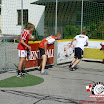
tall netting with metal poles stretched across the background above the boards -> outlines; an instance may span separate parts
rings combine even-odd
[[[104,37],[104,4],[99,0],[2,0],[0,7],[3,35],[20,35],[23,25],[31,22],[36,40],[56,32],[73,38],[82,28],[91,39]]]

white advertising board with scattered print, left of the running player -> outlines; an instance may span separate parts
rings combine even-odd
[[[74,57],[74,45],[69,48],[71,40],[58,41],[57,44],[57,64],[70,62]],[[75,43],[74,43],[75,44]]]

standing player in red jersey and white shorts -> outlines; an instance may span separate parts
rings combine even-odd
[[[31,51],[31,47],[28,45],[28,41],[32,39],[32,32],[34,30],[35,26],[31,23],[28,23],[26,28],[23,30],[23,33],[20,38],[20,42],[18,44],[18,56],[20,58],[19,64],[18,64],[18,75],[17,77],[23,77],[23,74],[25,74],[25,61],[27,57],[27,50]]]

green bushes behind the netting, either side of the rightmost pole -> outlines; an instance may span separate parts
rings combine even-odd
[[[91,22],[90,25],[86,25],[85,29],[87,31],[87,36],[89,39],[104,39],[104,22]],[[76,35],[81,33],[81,28],[77,28],[73,25],[67,25],[64,28],[64,39],[72,39]]]

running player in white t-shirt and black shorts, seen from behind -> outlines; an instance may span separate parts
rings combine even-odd
[[[71,71],[75,70],[75,66],[81,61],[81,58],[83,58],[84,46],[88,46],[88,37],[86,36],[86,34],[87,34],[86,30],[83,29],[82,34],[75,36],[69,46],[71,47],[74,40],[76,40],[75,55],[74,55],[75,57],[72,60],[71,64],[69,65]]]

